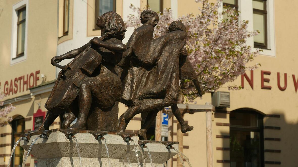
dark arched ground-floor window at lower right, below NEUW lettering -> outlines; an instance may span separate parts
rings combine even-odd
[[[231,166],[264,166],[263,115],[238,109],[230,114]]]

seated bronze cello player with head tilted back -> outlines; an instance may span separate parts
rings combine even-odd
[[[120,15],[110,11],[98,17],[97,26],[101,30],[100,38],[94,38],[78,49],[52,58],[51,63],[62,70],[45,104],[49,114],[44,121],[44,126],[39,130],[48,130],[58,115],[63,112],[72,112],[78,118],[77,122],[69,127],[70,129],[86,129],[86,120],[89,116],[91,121],[87,129],[116,130],[121,80],[114,66],[121,61],[122,52],[126,49],[125,44],[122,43],[126,25]],[[69,58],[74,59],[68,65],[58,64]],[[92,119],[96,118],[90,110],[91,104],[97,116],[100,115],[98,112],[106,114],[105,112],[112,111],[111,117],[105,117],[105,121],[109,123],[109,125],[103,125],[105,128],[94,128],[98,125],[92,123]]]

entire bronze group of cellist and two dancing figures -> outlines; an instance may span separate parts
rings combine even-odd
[[[158,21],[156,12],[144,10],[143,25],[134,31],[126,47],[122,43],[125,23],[116,12],[106,12],[97,20],[100,38],[52,58],[51,63],[61,71],[45,105],[49,114],[44,126],[36,131],[49,129],[59,114],[68,112],[63,128],[124,132],[132,117],[148,112],[138,131],[139,138],[146,139],[156,114],[167,106],[172,107],[181,131],[191,131],[193,126],[185,123],[176,104],[179,79],[191,79],[199,96],[204,91],[187,59],[186,28],[174,21],[169,33],[153,39]],[[66,66],[58,64],[68,58],[74,59]],[[129,108],[118,120],[119,101]],[[70,126],[75,118],[76,123]]]

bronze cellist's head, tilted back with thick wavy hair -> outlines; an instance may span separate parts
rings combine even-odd
[[[101,34],[109,38],[124,39],[126,25],[121,16],[114,11],[109,11],[97,18],[96,25],[100,28]]]

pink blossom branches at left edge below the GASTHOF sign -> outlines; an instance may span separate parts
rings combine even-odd
[[[5,97],[3,92],[0,92],[0,126],[5,125],[7,122],[12,121],[11,117],[8,117],[7,114],[12,112],[15,107],[12,104],[8,104],[7,106],[3,107],[4,102],[1,101]]]

